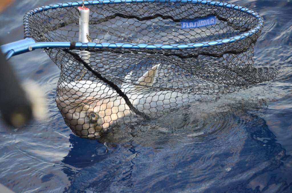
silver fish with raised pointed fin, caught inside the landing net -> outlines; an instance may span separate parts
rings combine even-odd
[[[152,86],[160,64],[143,74],[136,84],[121,85],[130,102],[145,113],[156,113],[159,108],[167,108],[182,94],[169,91],[145,92],[145,86]],[[129,80],[131,74],[125,77]],[[58,108],[66,124],[78,136],[99,138],[109,127],[134,114],[124,98],[102,82],[81,80],[58,86],[56,98]]]

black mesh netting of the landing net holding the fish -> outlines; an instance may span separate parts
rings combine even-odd
[[[255,28],[261,18],[200,3],[86,7],[90,9],[88,40],[96,44],[208,44],[244,34]],[[210,15],[216,17],[216,25],[182,29],[182,20]],[[36,42],[78,41],[77,7],[39,8],[29,12],[24,20],[25,35]],[[70,48],[48,48],[46,52],[61,70],[58,108],[75,134],[98,138],[119,121],[156,117],[190,102],[194,96],[230,93],[271,80],[276,76],[275,69],[254,67],[253,47],[260,31],[261,28],[233,43],[192,49],[130,46],[80,50],[74,43]]]

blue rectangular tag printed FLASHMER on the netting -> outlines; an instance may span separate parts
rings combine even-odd
[[[182,29],[205,27],[216,24],[215,16],[201,17],[194,20],[181,20]]]

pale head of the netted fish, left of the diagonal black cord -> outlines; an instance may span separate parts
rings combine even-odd
[[[102,84],[91,81],[62,83],[58,86],[57,106],[74,134],[99,138],[130,110],[124,100]],[[105,95],[106,93],[106,95]]]

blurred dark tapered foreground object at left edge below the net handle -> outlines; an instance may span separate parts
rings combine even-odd
[[[32,105],[2,52],[0,52],[0,62],[2,119],[13,127],[22,127],[32,119]]]

